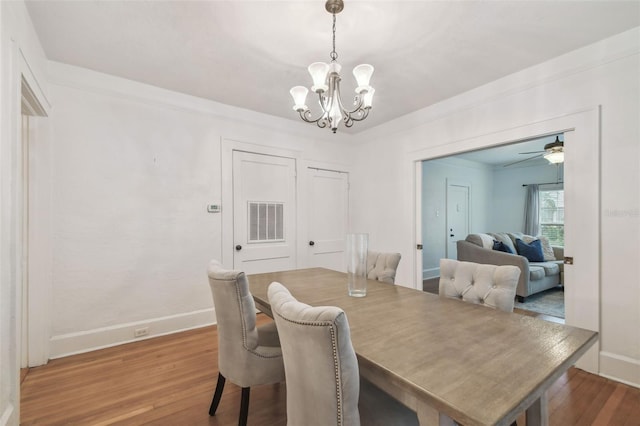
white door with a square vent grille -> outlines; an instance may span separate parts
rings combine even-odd
[[[247,274],[296,268],[296,162],[233,152],[233,267]]]

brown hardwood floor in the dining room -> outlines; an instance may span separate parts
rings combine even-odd
[[[23,370],[21,424],[235,425],[240,388],[232,383],[216,416],[208,414],[217,351],[216,328],[206,327]],[[550,389],[549,414],[557,426],[639,426],[640,389],[573,368]],[[249,424],[286,424],[284,384],[251,389]]]

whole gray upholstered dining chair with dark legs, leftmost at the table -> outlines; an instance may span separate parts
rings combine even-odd
[[[212,260],[209,286],[218,320],[218,383],[209,408],[214,416],[228,379],[242,388],[239,425],[247,424],[251,386],[284,381],[284,364],[275,322],[256,327],[256,307],[244,272]]]

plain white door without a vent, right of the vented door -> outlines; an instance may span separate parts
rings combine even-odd
[[[349,174],[307,169],[307,265],[344,271]]]

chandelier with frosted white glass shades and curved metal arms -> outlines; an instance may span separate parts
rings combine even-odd
[[[353,105],[350,106],[352,109],[349,110],[345,107],[340,95],[340,70],[342,67],[336,62],[338,58],[336,53],[336,14],[344,9],[344,3],[342,0],[327,0],[325,9],[333,15],[333,50],[329,55],[331,63],[314,62],[308,68],[313,79],[311,90],[318,95],[322,109],[318,118],[311,118],[311,111],[306,105],[307,93],[309,93],[306,87],[296,86],[289,93],[293,97],[293,110],[300,114],[301,119],[307,123],[316,123],[320,128],[328,125],[335,133],[340,121],[343,121],[346,127],[351,127],[354,122],[367,118],[371,110],[375,89],[369,86],[373,66],[369,64],[358,65],[353,69],[358,87]]]

